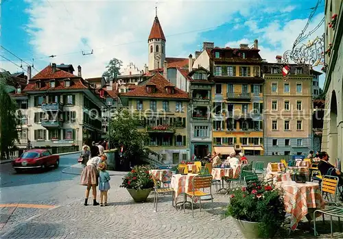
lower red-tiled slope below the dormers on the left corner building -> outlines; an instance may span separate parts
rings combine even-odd
[[[43,84],[43,82],[41,83]],[[82,83],[81,79],[73,79],[71,80],[71,86],[64,87],[65,81],[64,80],[56,80],[56,86],[54,88],[51,88],[49,85],[49,82],[45,82],[44,85],[41,85],[43,87],[36,88],[36,82],[29,82],[27,86],[24,88],[23,91],[36,91],[36,90],[64,90],[64,89],[70,89],[70,90],[80,90],[80,89],[88,89],[87,86],[85,86]]]

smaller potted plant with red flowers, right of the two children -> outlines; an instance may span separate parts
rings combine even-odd
[[[150,169],[150,166],[146,165],[134,166],[132,171],[123,177],[123,183],[120,187],[126,188],[137,203],[145,201],[154,187],[152,175],[149,173]]]

